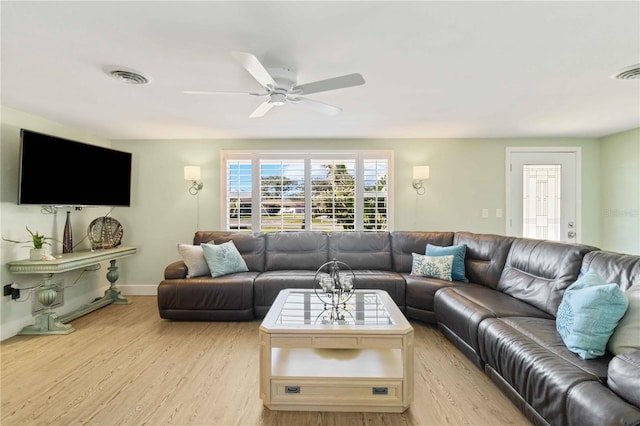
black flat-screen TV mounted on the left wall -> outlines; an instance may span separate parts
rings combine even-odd
[[[131,157],[21,129],[18,204],[130,206]]]

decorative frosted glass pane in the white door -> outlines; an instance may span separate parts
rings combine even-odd
[[[560,241],[561,171],[560,164],[523,167],[524,237]]]

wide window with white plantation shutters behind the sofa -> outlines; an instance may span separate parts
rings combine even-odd
[[[386,231],[391,151],[222,153],[230,231]]]

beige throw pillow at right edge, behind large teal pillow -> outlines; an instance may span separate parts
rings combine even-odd
[[[629,307],[607,343],[607,349],[614,355],[640,350],[640,285],[634,285],[624,294]]]

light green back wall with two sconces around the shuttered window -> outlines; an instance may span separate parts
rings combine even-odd
[[[221,229],[221,150],[392,149],[396,230],[466,230],[505,233],[505,151],[507,146],[580,146],[582,148],[582,241],[600,239],[600,142],[597,139],[389,139],[389,140],[139,140],[113,141],[133,153],[132,207],[114,211],[125,225],[125,243],[140,248],[133,268],[121,270],[127,284],[155,286],[163,266],[178,258],[178,242],[191,242],[197,229]],[[183,166],[202,167],[204,189],[189,195]],[[412,167],[429,165],[427,192],[411,187]],[[487,208],[490,217],[483,219]],[[144,291],[137,288],[137,292]]]

